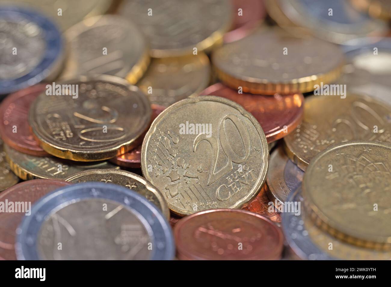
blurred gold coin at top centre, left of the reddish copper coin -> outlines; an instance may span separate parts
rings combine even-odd
[[[231,26],[227,0],[133,0],[118,9],[141,28],[151,44],[151,57],[178,57],[222,44]]]

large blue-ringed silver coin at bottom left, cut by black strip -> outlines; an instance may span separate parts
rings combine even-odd
[[[171,227],[155,205],[100,182],[47,194],[17,232],[18,260],[172,260],[175,253]]]

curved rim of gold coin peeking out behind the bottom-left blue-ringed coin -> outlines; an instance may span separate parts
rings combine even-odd
[[[149,181],[147,181],[145,178],[143,178],[140,175],[136,175],[135,173],[132,173],[130,171],[122,170],[122,169],[113,169],[113,168],[102,168],[102,169],[87,169],[85,171],[79,171],[77,173],[74,173],[64,179],[65,182],[71,182],[72,184],[75,184],[76,182],[72,182],[72,180],[75,180],[77,178],[81,178],[82,176],[90,175],[90,174],[100,174],[100,175],[106,175],[106,174],[117,174],[117,175],[123,175],[126,176],[127,178],[131,178],[136,180],[137,182],[141,183],[144,185],[148,191],[153,193],[156,198],[159,201],[160,209],[163,215],[166,217],[167,220],[170,219],[170,210],[167,207],[167,203],[163,197],[163,194],[159,189],[154,187]],[[88,181],[90,182],[90,181]],[[95,181],[92,181],[95,182]],[[113,182],[113,184],[115,184]],[[117,184],[120,185],[120,184]],[[137,193],[137,191],[135,191]]]

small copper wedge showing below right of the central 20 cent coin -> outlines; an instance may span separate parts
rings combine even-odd
[[[267,197],[267,185],[265,184],[256,198],[243,209],[267,217],[273,222],[281,223],[280,214],[274,211],[274,205],[272,203],[269,204],[269,202],[271,200]]]

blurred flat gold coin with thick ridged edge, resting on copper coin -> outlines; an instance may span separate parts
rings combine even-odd
[[[217,76],[233,89],[254,94],[314,90],[341,74],[343,50],[312,37],[295,38],[279,29],[261,29],[212,54]]]

